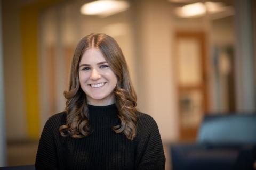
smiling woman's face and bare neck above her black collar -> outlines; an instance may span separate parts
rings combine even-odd
[[[79,83],[88,104],[106,106],[115,103],[117,78],[100,50],[91,48],[84,52],[79,63]]]

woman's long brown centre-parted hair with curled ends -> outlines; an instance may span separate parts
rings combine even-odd
[[[117,77],[114,94],[120,124],[113,126],[112,129],[116,133],[124,133],[128,139],[132,140],[136,134],[137,96],[121,48],[112,37],[102,33],[87,35],[79,41],[76,47],[71,64],[69,89],[64,91],[64,96],[67,99],[66,124],[60,126],[60,134],[82,138],[91,133],[86,94],[80,87],[78,77],[79,63],[83,53],[90,48],[101,51]]]

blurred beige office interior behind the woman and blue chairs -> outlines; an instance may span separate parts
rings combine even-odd
[[[205,114],[255,111],[254,0],[2,0],[0,11],[0,166],[34,164],[89,33],[121,46],[138,109],[159,126],[166,169],[166,146],[195,141]]]

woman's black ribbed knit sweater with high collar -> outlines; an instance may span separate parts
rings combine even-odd
[[[89,105],[93,132],[83,138],[62,137],[59,127],[66,113],[47,120],[37,150],[36,169],[164,169],[165,156],[156,122],[147,114],[137,114],[137,134],[131,141],[115,133],[119,124],[116,105]]]

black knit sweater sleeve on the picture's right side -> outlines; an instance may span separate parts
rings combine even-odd
[[[162,170],[165,169],[163,143],[155,120],[148,117],[147,123],[143,125],[146,129],[144,131],[146,137],[139,144],[142,150],[137,169]]]

